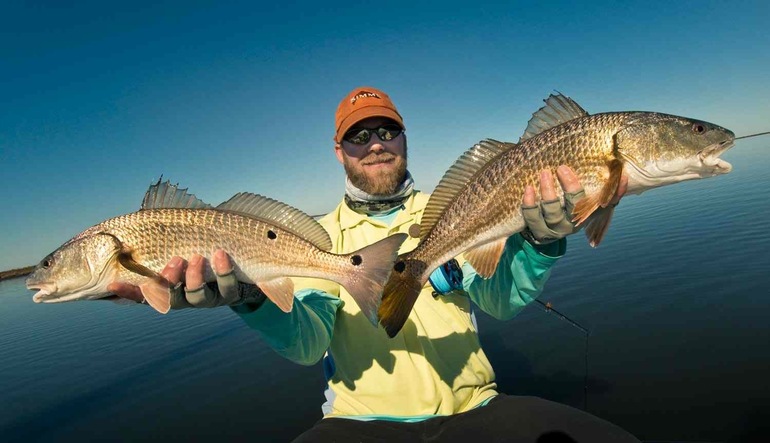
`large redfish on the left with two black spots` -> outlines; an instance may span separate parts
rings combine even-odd
[[[92,226],[45,257],[27,279],[38,303],[104,298],[107,285],[139,286],[161,313],[170,309],[168,291],[150,280],[175,255],[227,251],[239,281],[257,284],[284,312],[294,300],[289,277],[339,283],[377,325],[385,281],[406,234],[396,234],[350,254],[333,254],[329,234],[309,215],[276,200],[240,193],[216,208],[186,189],[156,183],[142,209]],[[206,269],[205,280],[216,281]]]

